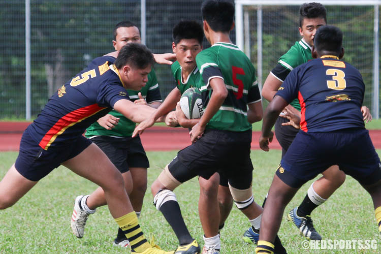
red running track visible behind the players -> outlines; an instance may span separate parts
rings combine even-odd
[[[18,151],[22,132],[30,122],[0,122],[0,151]],[[141,136],[144,148],[147,151],[180,150],[190,145],[189,131],[183,128],[169,128],[153,126]],[[381,149],[381,130],[370,130],[373,145]],[[251,149],[260,149],[258,145],[260,132],[252,133]],[[270,149],[281,149],[275,139],[270,143]]]

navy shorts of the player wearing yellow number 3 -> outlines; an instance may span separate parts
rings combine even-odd
[[[289,186],[298,188],[332,165],[338,165],[363,185],[381,179],[381,163],[365,129],[328,133],[299,131],[276,175]]]

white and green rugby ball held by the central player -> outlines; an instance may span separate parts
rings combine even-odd
[[[180,108],[188,119],[196,119],[202,116],[204,106],[199,88],[190,87],[184,91],[180,99]]]

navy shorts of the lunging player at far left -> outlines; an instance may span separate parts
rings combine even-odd
[[[23,133],[20,142],[20,152],[15,168],[25,178],[38,181],[48,175],[61,163],[80,154],[91,144],[91,141],[79,136],[74,142],[59,147],[41,148],[27,133]]]

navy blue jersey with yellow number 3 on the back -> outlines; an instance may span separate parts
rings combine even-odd
[[[365,85],[360,72],[336,56],[323,56],[295,68],[275,94],[298,98],[301,130],[331,132],[365,128],[361,106]]]

